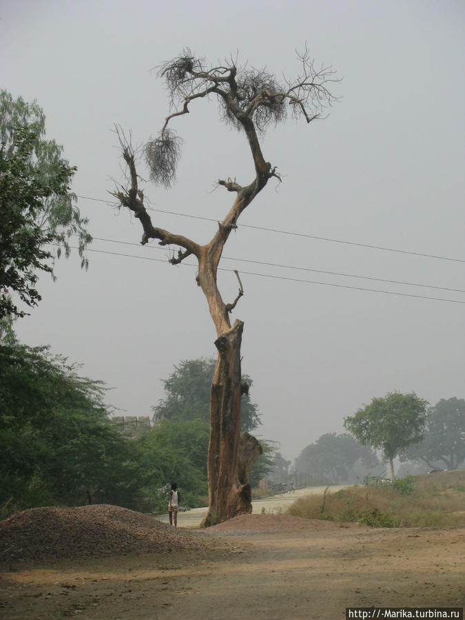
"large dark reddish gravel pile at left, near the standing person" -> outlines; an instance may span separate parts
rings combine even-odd
[[[74,558],[205,548],[206,541],[134,510],[31,508],[0,521],[2,559]]]

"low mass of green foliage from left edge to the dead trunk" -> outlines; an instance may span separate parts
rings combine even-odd
[[[209,423],[162,420],[136,439],[112,424],[101,382],[47,347],[17,342],[12,320],[0,320],[0,506],[110,503],[165,511],[164,487],[176,481],[182,505],[207,494]],[[188,400],[188,399],[187,399]],[[268,471],[274,448],[264,444],[252,483]]]

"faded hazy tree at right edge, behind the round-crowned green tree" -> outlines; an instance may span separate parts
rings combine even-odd
[[[422,459],[430,468],[442,462],[447,469],[457,469],[465,461],[465,400],[442,398],[430,407],[423,441],[407,448],[402,456]]]

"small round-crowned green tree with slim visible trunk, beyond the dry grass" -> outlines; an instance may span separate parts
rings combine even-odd
[[[415,393],[389,393],[346,417],[344,426],[362,444],[382,450],[394,479],[394,458],[423,439],[426,405]]]

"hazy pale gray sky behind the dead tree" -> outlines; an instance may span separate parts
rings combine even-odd
[[[111,179],[121,180],[114,123],[141,144],[167,115],[167,93],[152,68],[189,47],[207,61],[238,53],[239,62],[292,77],[300,69],[295,50],[307,41],[316,63],[343,78],[335,86],[342,100],[324,121],[269,130],[265,159],[283,183],[269,183],[251,203],[240,220],[249,227],[231,237],[220,264],[227,301],[237,292],[233,269],[245,288],[233,318],[245,321],[242,369],[254,380],[259,434],[291,459],[323,433],[342,431],[344,417],[372,397],[396,390],[431,404],[465,397],[463,292],[304,270],[464,291],[462,1],[273,8],[262,1],[3,0],[0,17],[1,87],[37,99],[48,136],[79,169],[72,189],[101,200]],[[245,136],[221,125],[214,101],[194,102],[173,127],[184,139],[177,182],[169,192],[145,183],[150,206],[222,219],[231,194],[213,192],[214,182],[253,178]],[[109,402],[127,415],[149,415],[174,364],[215,355],[196,270],[157,262],[167,249],[156,244],[99,240],[138,244],[141,229],[105,202],[80,198],[79,208],[90,218],[92,249],[143,259],[90,251],[87,273],[75,256],[60,260],[58,281],[41,278],[43,301],[17,331],[23,342],[50,343],[82,363],[83,373],[113,388]],[[216,229],[214,221],[152,216],[154,225],[199,242]]]

